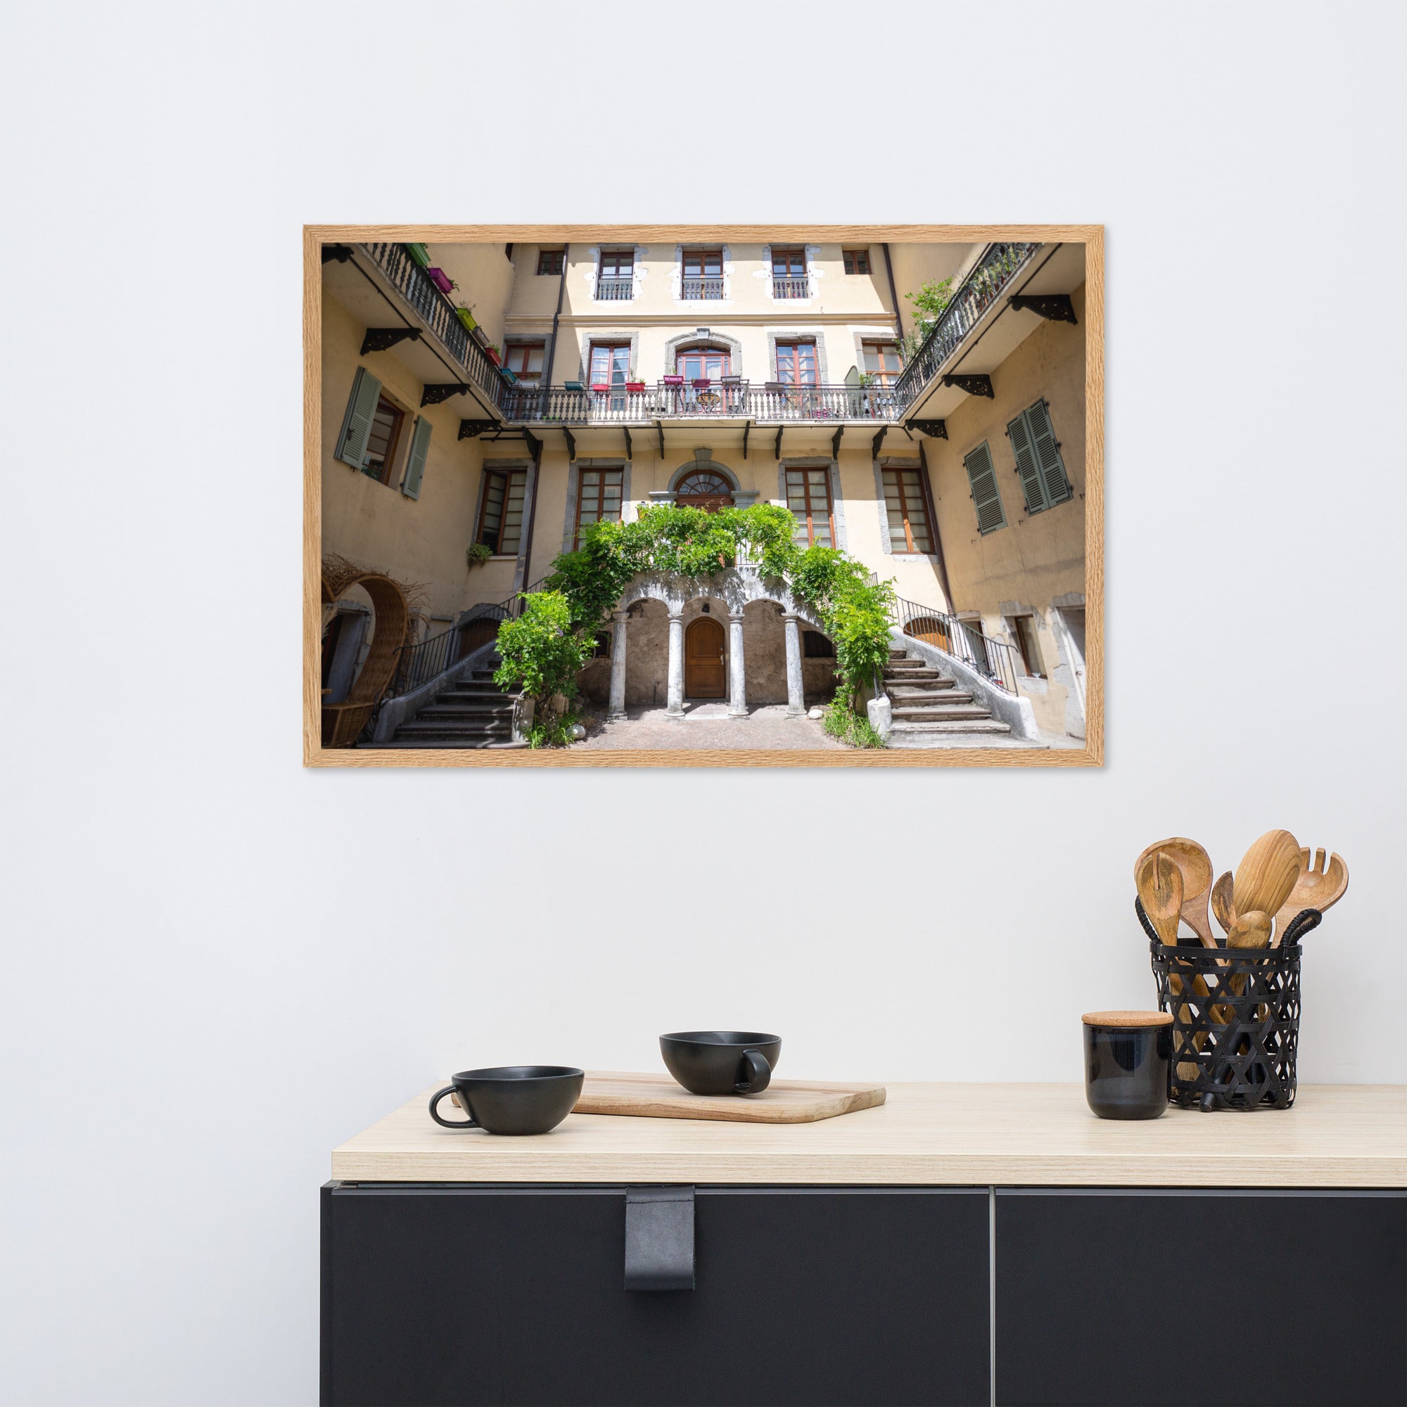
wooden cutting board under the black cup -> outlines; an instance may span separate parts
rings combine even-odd
[[[809,1124],[885,1099],[884,1085],[774,1079],[760,1095],[691,1095],[668,1075],[598,1071],[587,1075],[574,1114],[633,1114],[643,1119],[726,1119],[744,1124]]]

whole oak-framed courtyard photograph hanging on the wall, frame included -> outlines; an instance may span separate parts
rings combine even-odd
[[[304,231],[304,761],[1103,761],[1103,228]]]

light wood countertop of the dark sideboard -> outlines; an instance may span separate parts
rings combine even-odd
[[[1301,1085],[1294,1107],[1096,1119],[1081,1085],[889,1085],[808,1124],[568,1114],[497,1138],[431,1121],[432,1089],[332,1154],[343,1182],[1407,1186],[1407,1086]]]

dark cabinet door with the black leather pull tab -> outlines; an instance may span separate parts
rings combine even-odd
[[[985,1188],[699,1188],[673,1293],[623,1289],[620,1186],[322,1196],[331,1407],[991,1400]]]

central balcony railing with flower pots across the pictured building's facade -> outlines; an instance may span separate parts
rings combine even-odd
[[[512,424],[649,425],[654,421],[751,421],[754,425],[893,422],[908,402],[893,387],[787,386],[768,381],[658,383],[643,391],[514,387],[499,408]]]

